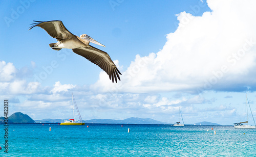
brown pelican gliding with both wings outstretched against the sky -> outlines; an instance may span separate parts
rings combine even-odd
[[[92,63],[98,65],[102,70],[104,70],[110,77],[110,80],[117,83],[117,77],[120,81],[119,74],[121,72],[117,69],[114,62],[111,60],[108,53],[89,45],[90,42],[95,43],[100,46],[104,46],[97,42],[90,36],[86,34],[80,35],[80,37],[70,33],[62,23],[62,21],[34,21],[29,30],[38,26],[44,29],[50,36],[57,39],[57,43],[49,44],[54,50],[60,50],[61,48],[70,48],[74,53],[88,59]],[[105,47],[105,46],[104,46]],[[118,74],[119,73],[119,74]]]

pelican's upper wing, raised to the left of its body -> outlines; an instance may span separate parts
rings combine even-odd
[[[32,25],[29,30],[31,30],[32,28],[38,26],[44,30],[46,30],[46,32],[52,36],[53,38],[56,38],[58,41],[62,40],[62,39],[70,39],[72,38],[74,35],[72,33],[70,33],[66,27],[64,26],[64,24],[62,23],[62,21],[34,21],[36,23],[32,23],[34,25]]]

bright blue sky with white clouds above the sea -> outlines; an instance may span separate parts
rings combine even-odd
[[[174,123],[180,108],[185,124],[246,121],[246,94],[256,116],[255,7],[253,0],[1,1],[0,100],[8,99],[9,116],[34,120],[72,118],[73,93],[83,120]],[[110,55],[121,81],[71,49],[51,49],[56,39],[45,30],[28,31],[33,20],[61,20],[105,45],[91,43]]]

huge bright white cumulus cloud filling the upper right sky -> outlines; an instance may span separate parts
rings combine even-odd
[[[146,93],[255,86],[251,78],[256,68],[256,1],[207,3],[212,11],[202,16],[177,14],[178,28],[167,34],[163,48],[145,57],[137,55],[121,82],[99,79],[94,89]]]

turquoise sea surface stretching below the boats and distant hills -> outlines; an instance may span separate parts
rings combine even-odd
[[[4,128],[0,156],[256,156],[256,129],[233,126],[9,124],[8,153]]]

